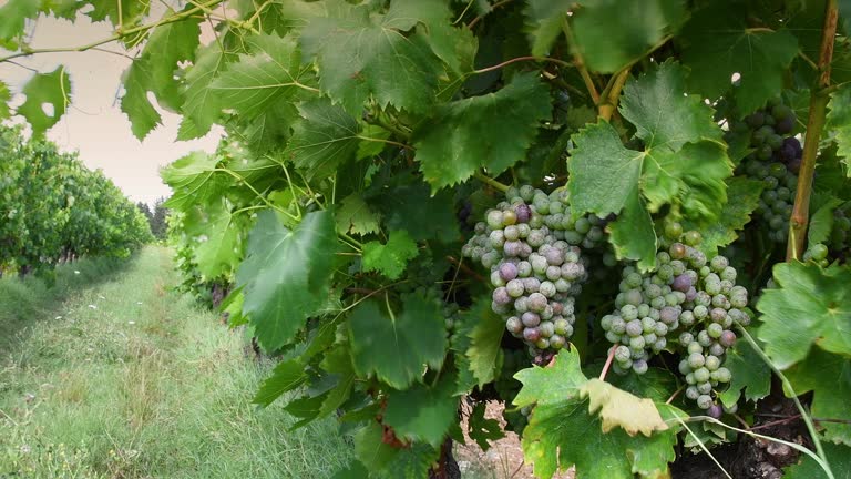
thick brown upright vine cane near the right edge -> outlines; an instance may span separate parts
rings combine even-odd
[[[816,173],[816,157],[819,153],[819,140],[824,128],[824,115],[830,96],[822,90],[830,86],[830,62],[833,58],[833,42],[837,35],[839,9],[837,0],[828,0],[824,10],[824,28],[821,32],[821,49],[819,53],[818,89],[810,95],[810,114],[807,119],[807,135],[803,140],[801,170],[798,174],[798,190],[794,195],[792,217],[789,221],[789,246],[786,259],[800,259],[807,234],[807,222],[810,214],[810,194],[812,193],[812,176]]]

